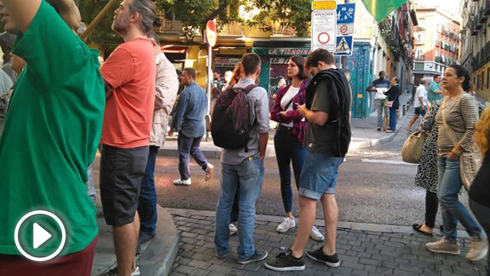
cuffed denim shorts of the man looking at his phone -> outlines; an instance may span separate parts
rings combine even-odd
[[[324,193],[335,194],[338,167],[343,157],[309,151],[299,177],[299,195],[319,200]]]

